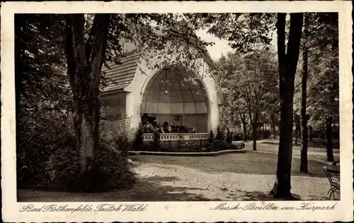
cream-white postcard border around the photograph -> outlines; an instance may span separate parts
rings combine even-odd
[[[1,4],[1,188],[2,214],[6,222],[268,222],[268,221],[350,221],[353,219],[353,140],[352,140],[352,6],[350,1],[209,1],[209,2],[6,2]],[[14,13],[164,13],[164,12],[335,12],[339,13],[339,85],[341,200],[314,201],[315,205],[336,205],[334,210],[210,210],[222,202],[146,202],[142,212],[20,212],[26,204],[58,204],[78,207],[102,203],[17,203],[16,126],[14,89]],[[274,176],[275,178],[275,176]],[[305,201],[256,201],[299,207]],[[119,206],[127,202],[106,202]],[[251,202],[230,201],[228,205]]]

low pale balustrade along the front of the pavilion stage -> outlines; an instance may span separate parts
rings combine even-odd
[[[207,140],[210,133],[160,133],[161,141]],[[153,141],[154,133],[144,133],[144,141]]]

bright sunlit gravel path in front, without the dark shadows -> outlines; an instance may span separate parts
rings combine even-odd
[[[143,179],[159,176],[161,186],[170,186],[171,189],[185,188],[185,193],[195,194],[207,200],[273,199],[268,192],[273,187],[274,175],[206,173],[198,169],[166,164],[141,164],[136,171]],[[301,200],[326,200],[328,188],[326,178],[292,176],[292,193]],[[182,192],[171,190],[169,193]]]

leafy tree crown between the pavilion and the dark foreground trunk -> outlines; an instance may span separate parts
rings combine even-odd
[[[221,72],[222,92],[235,119],[239,119],[241,113],[247,114],[253,122],[253,114],[270,116],[278,107],[275,52],[259,50],[228,54],[222,56],[217,65]]]

